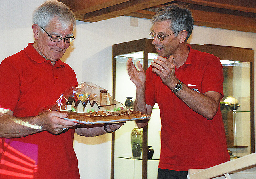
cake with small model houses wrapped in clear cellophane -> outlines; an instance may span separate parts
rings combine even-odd
[[[129,120],[149,119],[150,115],[132,111],[116,101],[107,90],[89,82],[68,88],[58,101],[44,111],[68,113],[66,120],[81,124],[112,123]]]

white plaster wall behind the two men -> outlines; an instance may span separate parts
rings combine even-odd
[[[34,42],[32,12],[43,0],[1,0],[0,62]],[[130,17],[87,23],[77,21],[76,39],[63,61],[76,72],[78,82],[92,82],[112,94],[112,45],[149,38],[151,23],[138,18],[138,27],[130,26]],[[195,26],[189,43],[237,46],[256,50],[256,33]],[[75,136],[82,179],[110,179],[111,135]]]

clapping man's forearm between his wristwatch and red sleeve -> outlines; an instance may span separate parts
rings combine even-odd
[[[220,102],[220,93],[218,92],[211,91],[202,94],[183,84],[182,90],[175,94],[193,111],[196,111],[208,120],[212,119],[218,110]]]

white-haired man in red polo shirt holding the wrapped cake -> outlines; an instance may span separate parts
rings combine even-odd
[[[63,91],[77,85],[75,72],[60,60],[74,40],[75,22],[66,5],[45,2],[34,12],[34,44],[0,65],[1,179],[79,179],[74,133],[96,136],[122,125],[80,128],[62,119],[64,113],[38,116],[41,107],[54,104]]]

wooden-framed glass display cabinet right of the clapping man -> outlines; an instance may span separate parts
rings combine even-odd
[[[191,46],[214,54],[222,63],[224,97],[220,107],[231,159],[254,153],[254,50],[210,44]]]

